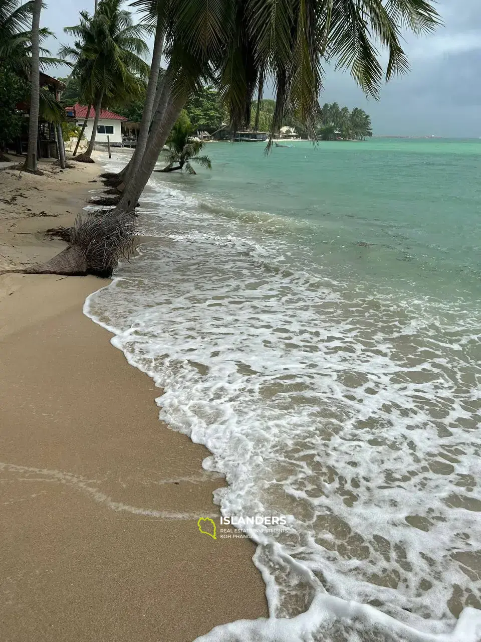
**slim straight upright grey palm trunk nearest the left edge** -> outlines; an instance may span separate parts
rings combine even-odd
[[[38,144],[38,112],[40,111],[40,12],[42,0],[34,0],[31,25],[31,90],[30,90],[30,122],[28,125],[28,150],[25,159],[25,171],[36,172]]]

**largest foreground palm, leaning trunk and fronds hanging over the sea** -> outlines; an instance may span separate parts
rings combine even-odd
[[[148,146],[118,212],[135,207],[185,101],[212,65],[234,128],[249,122],[253,96],[270,80],[276,99],[272,131],[290,110],[315,138],[324,60],[349,69],[364,92],[377,98],[383,70],[376,41],[389,51],[389,80],[408,69],[401,29],[425,33],[440,22],[426,0],[195,0],[194,6],[178,0],[174,9],[167,16],[167,52],[174,61],[167,72],[168,108],[164,114],[156,110]]]

